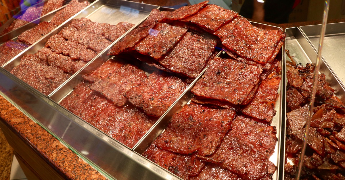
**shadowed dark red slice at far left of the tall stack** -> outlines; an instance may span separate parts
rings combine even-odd
[[[108,52],[109,55],[117,55],[121,52],[134,47],[142,38],[145,38],[154,27],[154,24],[151,24],[147,27],[136,28],[130,31],[124,38],[117,42]]]

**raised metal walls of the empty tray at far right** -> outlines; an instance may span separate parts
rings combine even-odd
[[[341,26],[340,28],[338,27],[339,25]],[[321,24],[298,27],[298,29],[302,32],[303,36],[308,40],[308,42],[311,44],[311,46],[314,48],[314,50],[316,52],[318,52],[318,49],[317,49],[318,47],[315,47],[314,44],[312,43],[311,39],[308,37],[308,34],[306,32],[307,30],[303,30],[303,29],[309,28],[309,27],[311,27],[313,29],[313,32],[308,32],[308,33],[311,33],[310,37],[319,37],[319,32],[321,31]],[[345,31],[343,30],[344,28],[345,28],[344,22],[327,24],[325,37],[334,36],[334,35],[339,34],[339,33],[345,34]],[[332,31],[335,31],[335,32],[332,32]],[[323,59],[324,63],[327,65],[329,70],[332,71],[332,73],[334,74],[335,78],[337,78],[337,80],[339,81],[341,86],[343,88],[345,88],[344,82],[342,82],[342,80],[337,76],[337,74],[333,70],[332,66],[327,62],[326,58],[324,58],[323,55],[321,55],[321,58]],[[345,102],[344,100],[345,99],[342,99],[343,102]]]

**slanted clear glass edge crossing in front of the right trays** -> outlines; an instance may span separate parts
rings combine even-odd
[[[310,122],[311,122],[311,119],[313,116],[315,94],[316,94],[317,82],[318,82],[318,78],[319,78],[319,69],[320,69],[319,65],[320,65],[320,59],[321,59],[321,51],[322,51],[323,40],[325,37],[326,23],[327,23],[328,10],[329,10],[329,1],[330,0],[325,0],[321,34],[320,34],[320,41],[319,41],[319,47],[318,47],[317,58],[316,58],[316,63],[315,63],[316,67],[315,67],[315,71],[314,71],[314,83],[313,83],[313,89],[312,89],[312,96],[311,96],[310,104],[309,104],[310,105],[309,106],[309,114],[308,114],[308,119],[306,122],[306,129],[305,129],[304,139],[303,139],[303,148],[302,148],[299,163],[298,163],[298,172],[297,172],[296,180],[300,180],[302,168],[304,166],[304,160],[303,159],[304,159],[305,150],[307,147],[307,140],[309,138]]]

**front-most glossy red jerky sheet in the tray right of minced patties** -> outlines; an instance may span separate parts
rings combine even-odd
[[[155,123],[137,108],[117,107],[100,93],[79,83],[60,104],[83,120],[132,148]]]

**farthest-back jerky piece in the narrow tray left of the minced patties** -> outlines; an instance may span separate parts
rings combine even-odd
[[[78,2],[77,0],[71,0],[71,2],[69,2],[65,8],[63,8],[55,14],[55,16],[51,19],[50,22],[55,24],[56,26],[59,26],[60,24],[65,22],[67,19],[69,19],[74,14],[78,13],[88,5],[89,2],[87,1]]]

